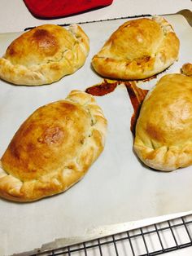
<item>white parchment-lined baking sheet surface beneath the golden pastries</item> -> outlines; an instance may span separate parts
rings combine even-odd
[[[165,17],[181,41],[179,60],[165,73],[179,73],[182,64],[191,62],[192,28],[182,15]],[[90,60],[124,21],[82,24],[90,38],[89,57],[81,69],[59,82],[28,87],[0,81],[0,156],[20,124],[35,109],[64,99],[73,89],[85,90],[102,82],[92,70]],[[19,34],[0,34],[0,55]],[[165,73],[139,86],[149,89]],[[191,166],[163,173],[143,166],[134,155],[130,131],[133,107],[126,88],[118,86],[111,94],[96,99],[108,120],[103,154],[85,178],[67,192],[33,203],[0,199],[0,255],[40,248],[55,239],[48,247],[76,241],[76,238],[81,241],[85,237],[103,236],[116,224],[120,232],[133,221],[192,210]]]

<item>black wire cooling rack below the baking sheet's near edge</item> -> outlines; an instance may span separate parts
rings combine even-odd
[[[155,256],[192,245],[192,215],[33,256]]]

